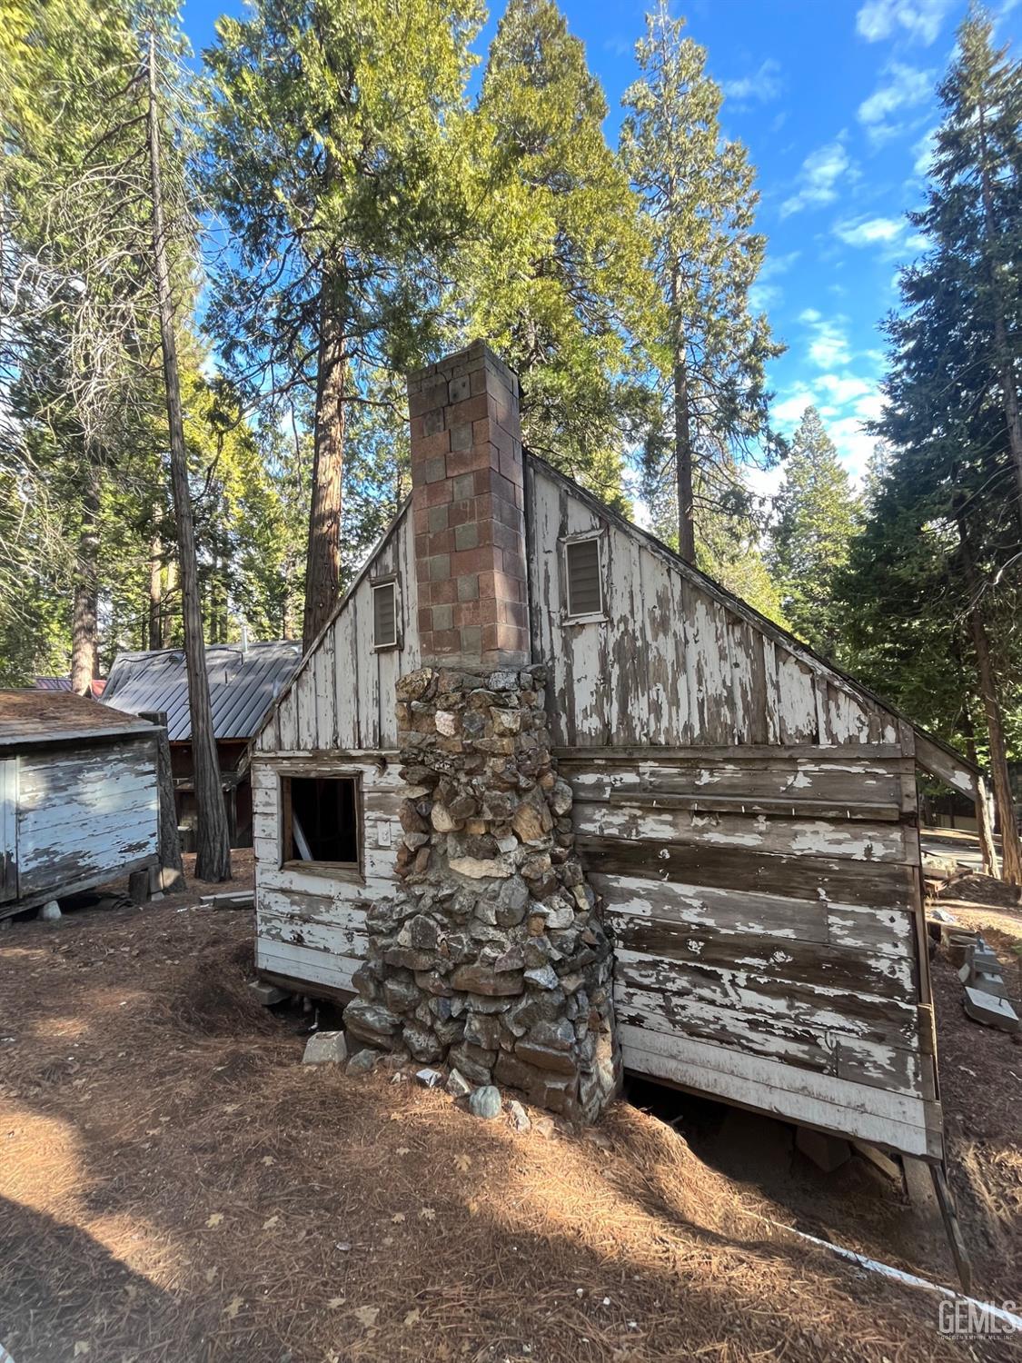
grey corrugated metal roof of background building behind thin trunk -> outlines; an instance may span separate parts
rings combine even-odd
[[[206,649],[213,732],[218,739],[251,739],[263,716],[301,661],[301,646],[289,639],[273,643],[214,643]],[[166,710],[172,743],[192,736],[188,714],[188,677],[184,649],[119,653],[106,679],[104,705],[138,714]]]

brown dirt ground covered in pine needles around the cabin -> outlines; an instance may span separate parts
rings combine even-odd
[[[929,1293],[762,1220],[890,1262],[893,1184],[814,1220],[627,1103],[544,1137],[388,1073],[303,1067],[301,1014],[245,988],[251,913],[196,893],[0,934],[0,1344],[16,1363],[1010,1356],[940,1337]],[[1022,919],[977,912],[1006,953],[1022,938]],[[948,972],[936,962],[957,1191],[977,1292],[1002,1300],[1022,1295],[1022,1052],[963,1021]],[[856,1212],[871,1199],[872,1221]]]

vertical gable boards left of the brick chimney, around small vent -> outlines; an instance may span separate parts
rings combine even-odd
[[[320,641],[303,661],[256,752],[328,752],[397,744],[394,683],[418,667],[418,592],[410,511],[364,568]],[[372,583],[395,578],[398,647],[373,646]]]

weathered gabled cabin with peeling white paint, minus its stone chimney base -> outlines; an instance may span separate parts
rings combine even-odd
[[[399,677],[542,664],[625,1070],[939,1159],[916,769],[974,770],[523,451],[485,346],[409,393],[413,496],[253,744],[260,973],[360,983],[407,856]]]

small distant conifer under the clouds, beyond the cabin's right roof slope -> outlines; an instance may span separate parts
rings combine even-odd
[[[838,657],[842,616],[834,586],[861,506],[815,408],[805,409],[792,440],[775,510],[770,570],[784,612],[809,647]]]

